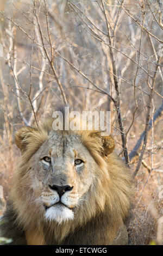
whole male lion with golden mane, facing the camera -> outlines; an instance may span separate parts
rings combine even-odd
[[[131,176],[112,136],[55,131],[52,120],[15,134],[20,162],[1,224],[11,245],[127,245]]]

